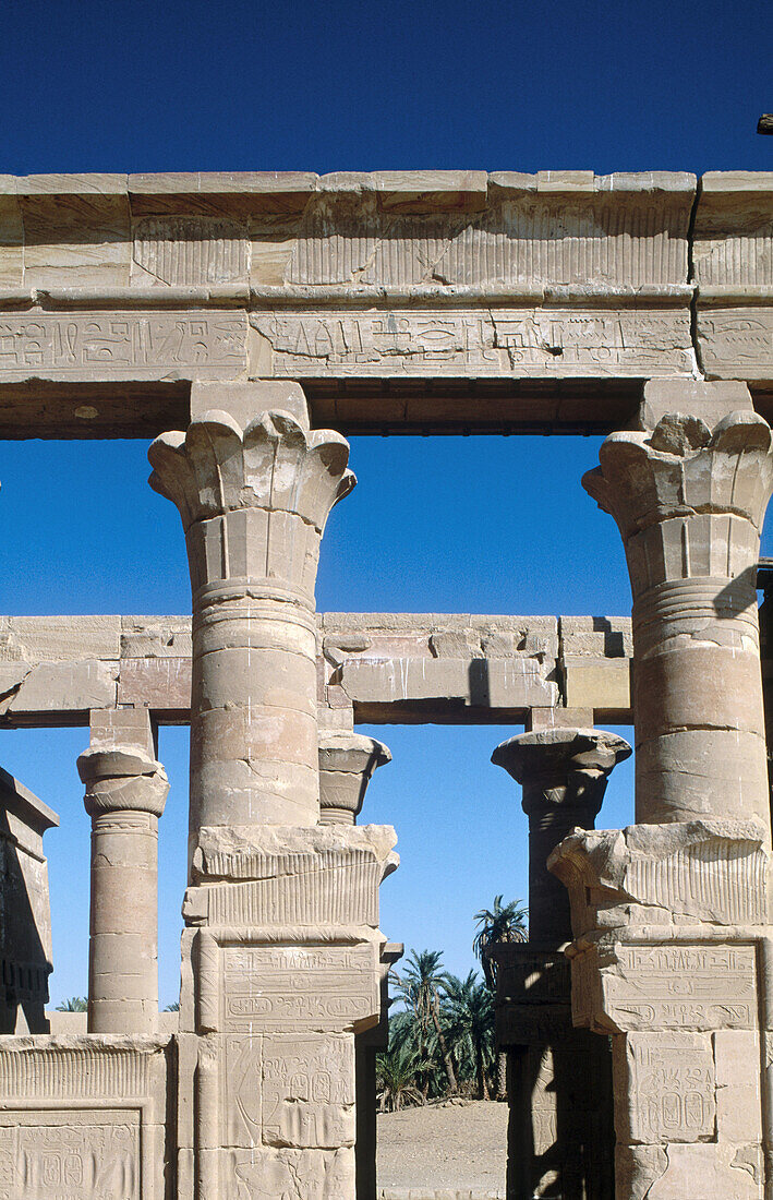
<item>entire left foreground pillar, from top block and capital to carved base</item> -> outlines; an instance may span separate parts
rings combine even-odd
[[[349,446],[292,383],[194,386],[192,418],[150,450],[193,592],[179,1200],[354,1200],[397,859],[388,827],[319,823],[314,583]]]

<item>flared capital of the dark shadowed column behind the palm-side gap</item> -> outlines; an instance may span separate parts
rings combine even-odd
[[[630,756],[616,733],[593,728],[552,728],[519,733],[502,742],[491,762],[524,786],[524,811],[581,806],[592,820],[602,806],[612,767]]]

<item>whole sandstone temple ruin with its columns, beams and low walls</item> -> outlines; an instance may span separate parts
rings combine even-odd
[[[0,719],[83,726],[92,828],[87,1032],[52,1033],[58,818],[0,774],[0,1200],[375,1200],[397,835],[356,726],[435,720],[526,730],[491,746],[531,848],[509,1200],[773,1200],[772,230],[744,172],[0,175],[0,436],[146,439],[192,587],[0,617]],[[530,432],[606,437],[630,617],[316,613],[348,434]]]

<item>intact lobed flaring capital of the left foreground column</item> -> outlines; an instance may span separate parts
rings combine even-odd
[[[147,456],[151,487],[180,510],[199,610],[288,593],[312,602],[325,523],[356,482],[345,438],[308,432],[285,412],[242,430],[211,410],[156,438]]]

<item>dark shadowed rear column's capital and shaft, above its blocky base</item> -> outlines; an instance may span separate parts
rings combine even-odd
[[[529,940],[557,948],[572,937],[569,895],[546,866],[576,826],[592,829],[615,763],[630,755],[623,738],[602,730],[554,728],[502,742],[491,762],[523,787],[529,817]]]

